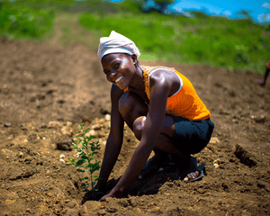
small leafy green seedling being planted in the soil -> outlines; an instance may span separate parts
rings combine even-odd
[[[98,171],[100,169],[101,166],[99,166],[100,161],[96,161],[94,159],[94,155],[96,155],[97,149],[99,148],[99,144],[98,142],[89,142],[91,139],[93,139],[93,136],[86,136],[86,133],[88,132],[88,130],[90,130],[89,128],[84,129],[85,125],[81,125],[79,124],[78,130],[76,131],[76,133],[79,133],[79,135],[76,135],[76,138],[81,139],[80,141],[73,142],[73,149],[77,150],[77,157],[75,158],[71,158],[71,165],[75,165],[76,167],[80,167],[80,169],[78,170],[78,172],[80,173],[85,173],[87,171],[90,172],[90,182],[91,182],[91,188],[92,188],[92,192],[94,195],[94,192],[96,191],[96,189],[94,189],[94,184],[95,182],[98,180],[98,176],[94,175],[94,171]],[[83,180],[88,180],[89,177],[85,176],[83,178]],[[86,185],[88,185],[87,182],[85,182],[84,184],[82,184],[82,187],[85,187]],[[85,190],[85,192],[87,192],[88,190]]]

